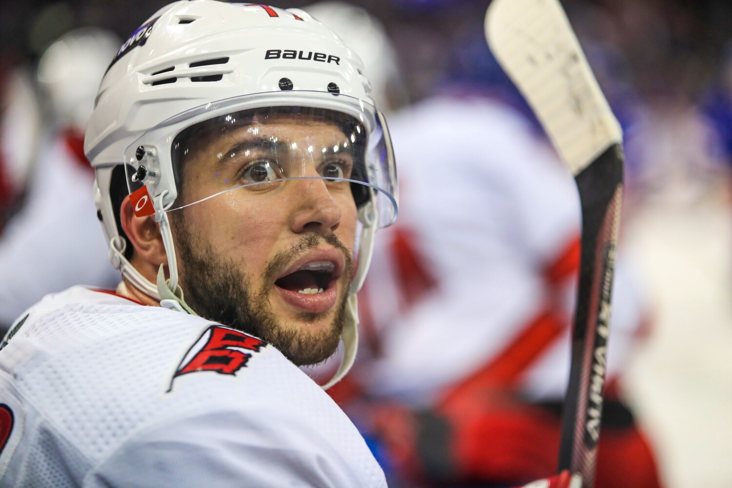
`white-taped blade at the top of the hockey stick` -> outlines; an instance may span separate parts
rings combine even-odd
[[[493,0],[485,37],[572,174],[622,141],[558,0]]]

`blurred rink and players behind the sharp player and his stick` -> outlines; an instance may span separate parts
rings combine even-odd
[[[83,127],[109,60],[166,3],[1,2],[0,326],[119,281]],[[507,486],[556,459],[577,196],[485,45],[489,3],[271,2],[359,53],[392,129],[400,221],[360,296],[359,364],[331,392],[392,486]],[[732,2],[562,3],[627,156],[599,486],[731,487]]]

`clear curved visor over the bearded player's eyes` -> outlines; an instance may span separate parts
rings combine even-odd
[[[277,96],[280,102],[288,98]],[[231,108],[245,107],[253,97],[239,97]],[[223,195],[258,200],[256,204],[310,195],[359,208],[371,203],[377,225],[391,224],[397,214],[397,176],[381,114],[345,95],[301,92],[291,100],[295,97],[301,102],[322,100],[317,108],[279,105],[231,112],[225,110],[229,105],[209,104],[192,114],[192,125],[181,129],[181,123],[172,121],[147,132],[125,152],[130,193],[145,184],[152,198],[160,195],[165,184],[157,173],[165,173],[160,168],[168,164],[164,153],[169,147],[176,198],[157,211]],[[207,114],[214,116],[205,119]],[[175,129],[176,135],[166,129]]]

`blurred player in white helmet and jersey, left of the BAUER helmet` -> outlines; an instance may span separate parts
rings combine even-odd
[[[0,236],[3,329],[46,293],[78,283],[114,287],[119,282],[99,234],[94,171],[83,154],[94,95],[118,49],[119,40],[107,31],[77,29],[40,59],[37,78],[50,101],[52,123],[44,143],[34,142],[42,149],[34,154],[23,207]]]

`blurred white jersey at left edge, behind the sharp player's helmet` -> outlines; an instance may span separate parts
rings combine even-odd
[[[47,293],[116,287],[93,186],[89,162],[69,140],[59,135],[42,151],[23,209],[0,236],[0,329]]]

